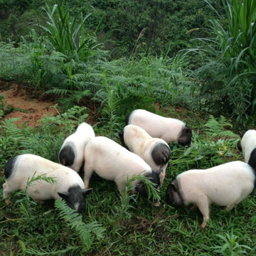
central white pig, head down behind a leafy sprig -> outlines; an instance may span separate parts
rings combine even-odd
[[[84,152],[84,184],[89,186],[89,179],[93,172],[100,177],[114,180],[122,197],[124,197],[127,179],[133,175],[143,175],[160,189],[160,178],[158,172],[153,172],[152,168],[138,155],[129,152],[126,148],[106,137],[95,137],[87,143]],[[148,199],[145,184],[140,180],[132,182],[132,191],[139,193]],[[153,203],[153,199],[149,199]],[[154,202],[155,203],[155,202]],[[159,202],[154,204],[159,205]]]

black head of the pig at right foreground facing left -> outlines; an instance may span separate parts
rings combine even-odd
[[[182,194],[180,193],[177,179],[173,179],[172,182],[168,185],[165,203],[171,204],[173,206],[183,206],[184,200]]]

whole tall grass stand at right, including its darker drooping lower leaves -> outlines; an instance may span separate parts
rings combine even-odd
[[[205,2],[218,17],[208,21],[213,37],[198,38],[199,47],[183,54],[192,57],[200,107],[242,124],[256,113],[256,1],[222,0],[222,15]]]

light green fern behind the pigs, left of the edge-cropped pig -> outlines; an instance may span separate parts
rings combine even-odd
[[[239,138],[239,135],[234,132],[227,130],[225,127],[229,127],[230,129],[233,127],[232,124],[227,121],[224,116],[220,116],[218,121],[214,118],[214,116],[210,115],[208,122],[204,125],[207,135],[212,137],[222,137],[222,138]]]

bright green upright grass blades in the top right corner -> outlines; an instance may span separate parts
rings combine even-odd
[[[207,2],[205,0],[205,2]],[[208,2],[207,2],[208,3]],[[231,82],[245,69],[256,72],[256,1],[222,0],[225,17],[210,19],[229,74],[236,74]],[[208,3],[209,4],[209,3]],[[209,4],[210,5],[210,4]]]

